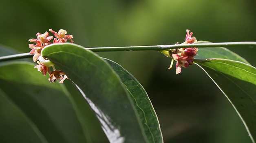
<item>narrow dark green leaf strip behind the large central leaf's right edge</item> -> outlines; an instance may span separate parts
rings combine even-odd
[[[126,90],[129,92],[150,143],[163,143],[159,121],[157,119],[157,115],[154,111],[152,103],[148,98],[147,92],[135,79],[135,77],[133,77],[127,70],[125,70],[116,62],[108,59],[105,60],[119,75],[122,83],[126,87]]]

